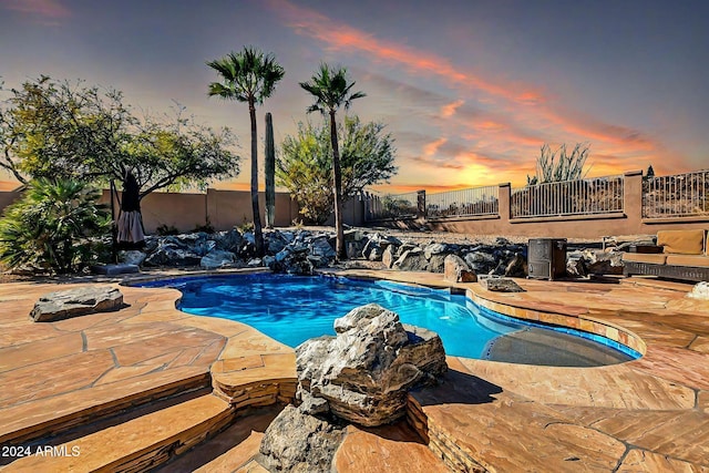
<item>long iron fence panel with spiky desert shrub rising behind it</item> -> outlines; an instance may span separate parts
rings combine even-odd
[[[512,218],[594,215],[623,212],[624,177],[544,183],[512,189]]]

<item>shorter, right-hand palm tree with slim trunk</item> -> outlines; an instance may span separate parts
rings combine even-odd
[[[320,112],[330,115],[330,143],[332,145],[332,181],[335,182],[335,228],[337,229],[336,253],[338,259],[346,259],[345,227],[342,226],[342,171],[340,168],[340,150],[337,142],[337,122],[335,114],[340,106],[350,107],[354,99],[366,96],[363,92],[350,93],[354,81],[348,83],[347,69],[330,68],[320,64],[309,82],[300,82],[300,86],[315,96],[316,102],[308,107],[308,113]]]

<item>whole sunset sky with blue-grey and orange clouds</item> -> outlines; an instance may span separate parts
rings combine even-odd
[[[395,138],[383,192],[521,185],[543,143],[590,143],[589,176],[675,174],[709,167],[707,20],[702,0],[0,0],[0,76],[83,79],[155,113],[178,101],[234,128],[244,187],[248,110],[207,97],[205,61],[247,44],[286,69],[259,140],[266,112],[277,142],[321,120],[298,82],[348,68],[368,94],[350,113]]]

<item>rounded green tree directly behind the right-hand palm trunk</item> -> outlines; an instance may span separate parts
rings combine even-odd
[[[338,125],[338,142],[342,143],[342,198],[387,182],[397,173],[393,138],[383,130],[382,123],[362,123],[358,116],[346,116],[345,124]],[[276,176],[278,185],[298,199],[300,213],[307,219],[325,223],[335,202],[329,126],[300,123],[296,135],[286,136]]]

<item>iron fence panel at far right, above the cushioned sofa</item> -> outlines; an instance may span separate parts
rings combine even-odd
[[[709,215],[709,169],[643,181],[643,218]]]

